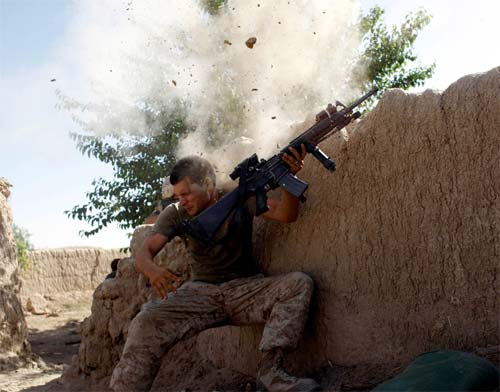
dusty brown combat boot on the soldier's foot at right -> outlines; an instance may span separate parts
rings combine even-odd
[[[283,368],[283,352],[266,351],[257,373],[257,390],[269,392],[312,392],[320,387],[312,378],[294,377]]]

